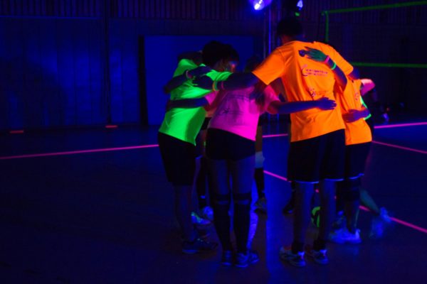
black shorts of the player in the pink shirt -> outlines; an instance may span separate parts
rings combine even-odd
[[[255,141],[221,129],[208,129],[206,156],[212,160],[241,160],[255,155]]]

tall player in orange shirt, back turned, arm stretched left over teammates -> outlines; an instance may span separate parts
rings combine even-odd
[[[259,67],[246,74],[233,74],[225,81],[214,82],[218,89],[238,89],[262,82],[270,84],[280,78],[288,102],[334,99],[336,85],[345,89],[344,73],[353,70],[334,48],[325,43],[307,42],[296,18],[278,23],[283,45],[268,55]],[[325,57],[325,54],[327,55]],[[209,78],[196,80],[209,88]],[[344,178],[344,121],[339,109],[309,109],[291,114],[291,141],[288,155],[288,179],[296,183],[296,202],[292,245],[280,248],[280,258],[294,266],[305,266],[305,233],[310,222],[310,200],[314,184],[320,183],[320,231],[309,256],[327,264],[326,243],[335,214],[334,191]]]

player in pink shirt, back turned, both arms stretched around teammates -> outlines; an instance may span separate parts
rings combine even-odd
[[[256,65],[253,62],[246,70],[251,71]],[[213,87],[216,91],[216,86]],[[234,91],[211,92],[200,99],[176,100],[169,102],[168,107],[200,107],[207,104],[218,104],[208,126],[206,156],[214,192],[214,224],[223,248],[221,264],[246,267],[259,261],[258,253],[249,250],[247,244],[255,170],[255,135],[260,114],[265,111],[289,114],[312,108],[330,110],[336,104],[327,98],[310,102],[280,102],[273,88],[258,84]],[[231,244],[231,218],[228,214],[231,194],[236,253]]]

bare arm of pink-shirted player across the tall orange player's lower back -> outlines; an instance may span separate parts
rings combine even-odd
[[[268,106],[268,112],[270,114],[292,114],[297,111],[305,111],[307,109],[322,109],[332,110],[337,107],[337,103],[332,99],[322,98],[317,101],[305,101],[305,102],[272,102]]]

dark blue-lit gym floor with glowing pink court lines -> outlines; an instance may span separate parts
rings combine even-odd
[[[258,215],[253,239],[261,260],[244,269],[221,266],[220,249],[181,253],[157,127],[1,135],[0,283],[423,283],[427,122],[419,122],[374,133],[362,183],[394,217],[384,239],[368,238],[372,215],[361,211],[362,244],[330,244],[329,265],[305,268],[278,257],[292,240],[280,126],[264,129],[268,214]],[[217,241],[213,227],[209,238]]]

